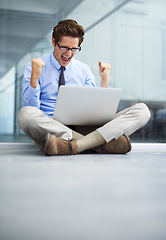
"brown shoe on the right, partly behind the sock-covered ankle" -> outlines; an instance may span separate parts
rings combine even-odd
[[[131,143],[128,136],[120,136],[117,140],[113,139],[108,143],[105,143],[96,149],[97,153],[101,154],[124,154],[131,151]]]

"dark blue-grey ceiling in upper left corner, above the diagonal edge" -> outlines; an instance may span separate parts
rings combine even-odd
[[[0,79],[82,0],[1,0]]]

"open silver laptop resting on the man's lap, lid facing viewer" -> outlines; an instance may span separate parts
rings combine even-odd
[[[117,112],[122,89],[102,87],[59,88],[53,119],[64,125],[101,125]]]

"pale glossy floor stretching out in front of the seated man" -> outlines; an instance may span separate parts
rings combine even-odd
[[[0,239],[166,239],[166,144],[46,157],[0,143]]]

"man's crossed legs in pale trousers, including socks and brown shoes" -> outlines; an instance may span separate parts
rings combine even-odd
[[[99,153],[105,153],[103,149],[109,149],[106,153],[128,152],[131,149],[128,136],[142,128],[149,119],[148,107],[144,103],[138,103],[116,114],[104,126],[83,136],[35,107],[23,107],[17,118],[22,130],[46,155],[77,154],[88,149],[95,149]],[[123,144],[124,150],[117,149],[117,145]],[[114,151],[115,148],[117,151]]]

